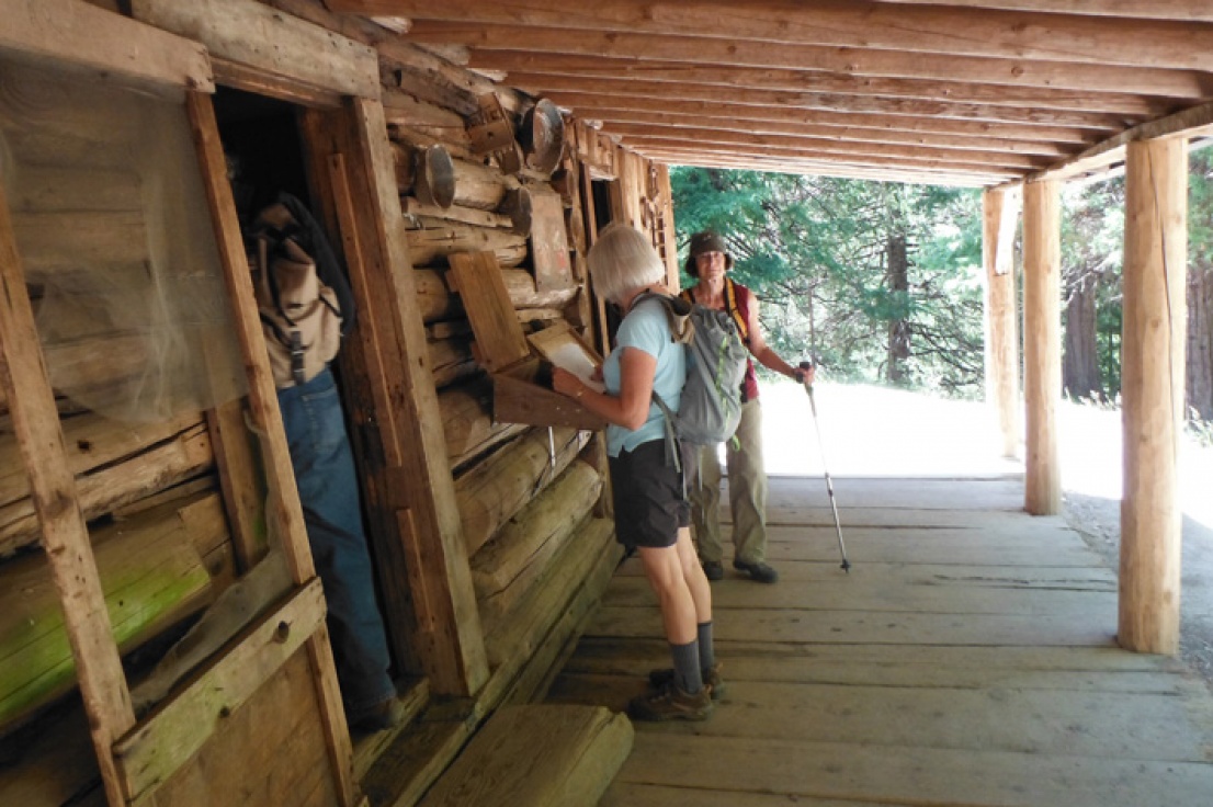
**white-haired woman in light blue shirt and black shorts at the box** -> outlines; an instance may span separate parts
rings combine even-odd
[[[560,369],[552,386],[608,422],[616,538],[639,553],[673,655],[672,670],[650,675],[656,691],[634,698],[628,711],[638,720],[704,720],[721,694],[712,591],[690,540],[682,473],[667,461],[664,415],[653,400],[656,392],[677,411],[687,377],[685,348],[671,335],[664,303],[644,296],[667,294],[665,265],[643,233],[622,225],[600,233],[587,261],[594,291],[623,316],[600,368],[605,390]]]

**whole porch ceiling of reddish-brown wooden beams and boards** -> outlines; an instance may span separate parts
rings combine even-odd
[[[1208,0],[324,0],[654,160],[996,186],[1213,120]]]

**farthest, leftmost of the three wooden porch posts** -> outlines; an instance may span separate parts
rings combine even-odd
[[[1019,218],[1015,191],[981,194],[985,263],[986,404],[998,419],[1002,455],[1019,454],[1019,348],[1015,339],[1015,265],[1012,246]]]

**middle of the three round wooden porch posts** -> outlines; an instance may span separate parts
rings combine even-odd
[[[1061,217],[1057,181],[1024,188],[1024,507],[1061,510],[1057,410],[1061,398]]]

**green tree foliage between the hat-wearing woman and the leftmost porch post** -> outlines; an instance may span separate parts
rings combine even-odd
[[[980,392],[976,192],[687,167],[671,181],[679,246],[700,229],[725,237],[733,277],[763,300],[767,341],[786,359],[811,354],[830,377],[877,381],[902,323],[904,383]],[[905,290],[890,282],[895,243],[906,245]]]

